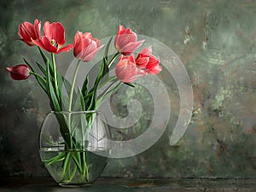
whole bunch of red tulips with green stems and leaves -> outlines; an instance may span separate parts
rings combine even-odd
[[[18,35],[20,36],[20,40],[28,46],[38,47],[44,65],[39,62],[35,62],[32,65],[24,59],[24,64],[9,66],[7,67],[7,71],[9,71],[10,76],[15,80],[26,80],[29,76],[34,76],[40,87],[47,94],[51,110],[54,111],[75,111],[77,110],[77,105],[79,105],[79,109],[84,111],[98,110],[102,102],[116,92],[123,83],[134,86],[132,82],[136,81],[138,77],[147,76],[148,74],[157,75],[161,71],[160,59],[152,54],[151,46],[143,48],[136,57],[133,53],[143,44],[144,40],[137,41],[137,34],[134,31],[131,31],[129,28],[125,29],[123,25],[119,25],[117,35],[114,37],[113,42],[117,53],[108,55],[108,49],[113,40],[113,37],[111,37],[105,45],[101,68],[97,73],[95,82],[92,83],[92,88],[89,88],[89,74],[84,76],[82,88],[74,91],[79,65],[87,65],[86,63],[94,59],[99,49],[104,47],[104,45],[101,45],[98,39],[93,38],[90,32],[83,33],[81,31],[76,32],[73,38],[73,44],[65,45],[65,29],[59,22],[44,22],[44,35],[42,35],[40,20],[34,20],[33,24],[26,21],[19,25]],[[72,49],[73,56],[77,59],[77,65],[73,73],[73,81],[68,82],[56,68],[55,54],[68,52]],[[50,59],[47,53],[50,54]],[[115,76],[109,76],[109,68],[116,59],[119,60],[115,66]],[[40,72],[37,72],[36,69],[39,69]],[[101,94],[98,94],[98,88],[106,84],[110,84],[110,86]],[[62,87],[66,88],[68,96],[64,95]],[[77,100],[73,99],[74,94],[77,96]],[[66,105],[63,105],[63,103]],[[81,149],[82,145],[78,144],[70,132],[69,126],[72,125],[72,122],[70,120],[67,122],[63,116],[57,116],[57,119],[60,123],[65,149],[84,150]],[[93,121],[93,116],[86,116],[86,119]],[[86,170],[86,159],[83,156],[60,153],[54,158],[45,161],[50,165],[62,160],[63,164],[66,165],[64,162],[73,159],[77,164],[80,174],[88,179],[88,175],[86,176],[86,172],[88,172]],[[79,165],[78,162],[83,163]],[[65,170],[63,171],[64,179],[68,171],[67,167],[64,167],[63,170]],[[68,179],[71,180],[72,178]]]

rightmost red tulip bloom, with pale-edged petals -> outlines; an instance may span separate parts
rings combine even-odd
[[[143,48],[143,50],[137,55],[137,67],[152,75],[157,75],[160,73],[160,71],[162,71],[159,64],[160,60],[152,54],[151,46],[148,48]]]

